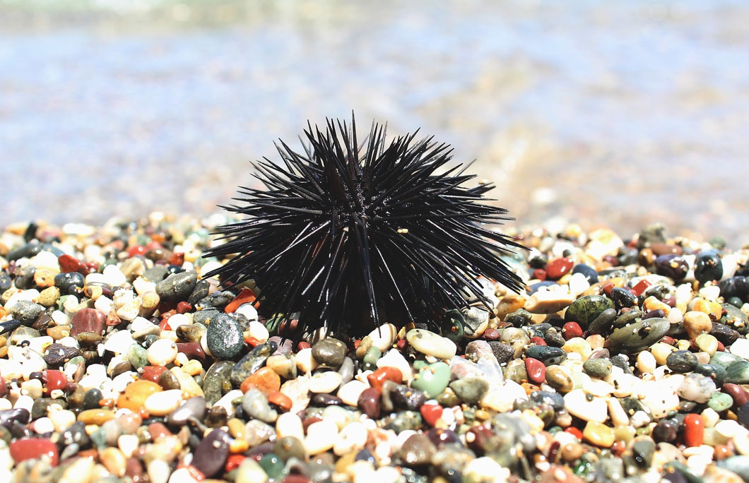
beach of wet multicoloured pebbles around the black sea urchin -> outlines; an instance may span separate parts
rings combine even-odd
[[[3,229],[0,481],[749,481],[749,249],[518,231],[523,293],[348,336],[204,278],[227,221]]]

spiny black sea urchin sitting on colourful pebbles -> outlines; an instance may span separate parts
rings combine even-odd
[[[341,121],[305,131],[305,154],[276,145],[282,164],[265,159],[255,174],[266,190],[240,187],[245,216],[218,228],[228,241],[208,255],[234,255],[214,270],[223,282],[254,279],[261,313],[300,312],[308,329],[363,332],[387,321],[434,322],[468,300],[484,303],[477,276],[518,290],[521,280],[497,255],[520,247],[485,228],[506,210],[477,201],[491,185],[464,188],[475,175],[449,162],[449,145],[416,133],[386,145],[373,124],[357,143]]]

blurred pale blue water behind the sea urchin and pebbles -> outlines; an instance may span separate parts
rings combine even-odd
[[[421,127],[515,227],[749,243],[749,3],[0,0],[0,225],[206,215],[309,119]]]

